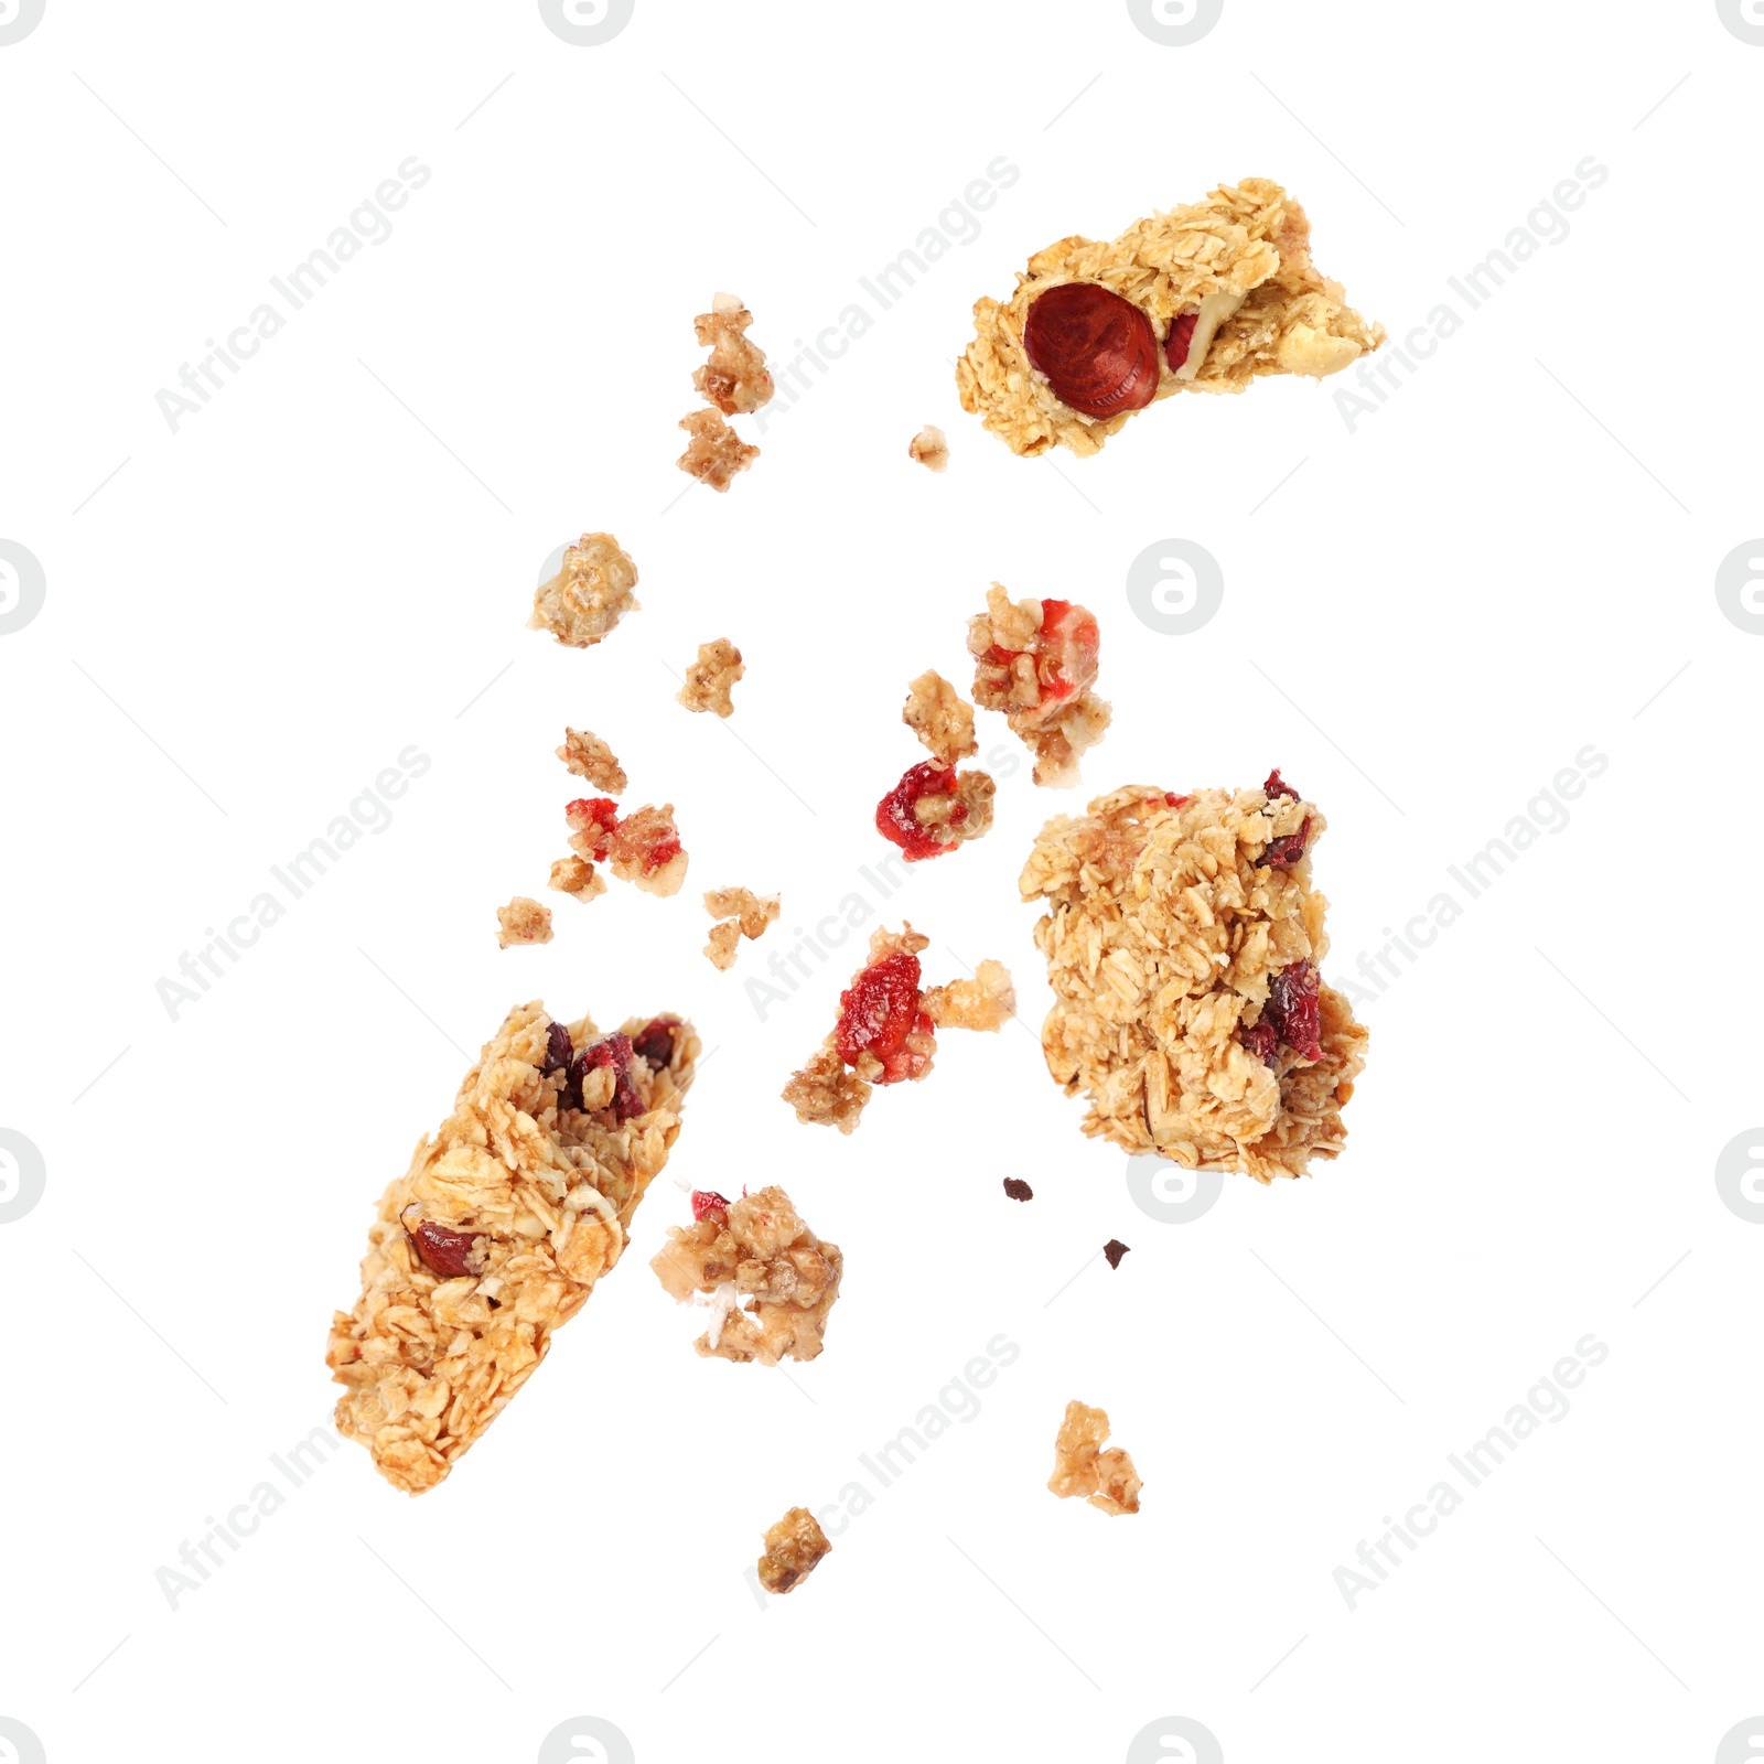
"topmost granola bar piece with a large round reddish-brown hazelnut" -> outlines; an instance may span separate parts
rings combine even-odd
[[[1088,455],[1178,392],[1341,372],[1385,340],[1344,302],[1311,263],[1304,208],[1245,178],[1106,243],[1074,233],[1035,252],[1009,300],[974,303],[956,392],[1013,453]]]

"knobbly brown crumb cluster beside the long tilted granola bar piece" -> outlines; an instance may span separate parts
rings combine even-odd
[[[691,1224],[672,1226],[649,1267],[681,1304],[711,1300],[711,1327],[693,1344],[700,1358],[776,1365],[820,1353],[845,1263],[769,1187],[739,1201],[693,1194]]]

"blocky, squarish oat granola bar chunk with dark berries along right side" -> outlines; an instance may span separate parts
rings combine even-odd
[[[1337,1157],[1365,1028],[1321,983],[1323,811],[1279,776],[1189,796],[1127,785],[1041,829],[1020,889],[1055,1004],[1048,1071],[1083,1131],[1187,1170],[1268,1182]],[[1288,859],[1270,854],[1284,841]]]

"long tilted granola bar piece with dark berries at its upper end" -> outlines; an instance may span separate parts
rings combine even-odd
[[[663,1021],[665,1057],[624,1051],[660,1051]],[[573,1050],[607,1044],[593,1067],[609,1074],[607,1099],[584,1108]],[[559,1023],[538,1002],[485,1044],[453,1113],[381,1198],[362,1297],[332,1321],[325,1358],[346,1387],[337,1429],[393,1487],[420,1494],[448,1475],[619,1259],[679,1134],[699,1053],[679,1018],[633,1018],[600,1037],[589,1018]]]

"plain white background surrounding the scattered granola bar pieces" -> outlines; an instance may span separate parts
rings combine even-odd
[[[515,0],[49,0],[0,48],[0,538],[48,584],[0,637],[0,1127],[48,1171],[0,1226],[0,1715],[53,1764],[529,1760],[580,1715],[642,1764],[1115,1760],[1171,1715],[1231,1764],[1713,1759],[1764,1709],[1764,1230],[1713,1175],[1764,1115],[1764,647],[1713,591],[1764,529],[1760,79],[1700,0],[1226,0],[1189,48],[1120,4],[637,0],[575,48]],[[155,392],[409,155],[392,236],[173,434]],[[1000,155],[977,236],[878,314],[857,277],[940,213],[967,233],[946,210]],[[1348,379],[1159,406],[1094,460],[958,409],[970,303],[1065,233],[1272,176],[1401,339],[1589,155],[1570,235],[1357,432]],[[674,423],[723,288],[774,360],[854,300],[875,325],[713,496]],[[942,478],[905,455],[926,422]],[[587,653],[522,628],[584,529],[644,603]],[[1173,536],[1226,582],[1189,637],[1124,589]],[[1097,612],[1115,727],[1083,792],[1018,769],[884,905],[859,864],[919,757],[905,683],[967,683],[993,579]],[[716,635],[748,658],[727,727],[665,676]],[[564,721],[677,806],[681,896],[545,896]],[[173,1021],[180,953],[409,744],[392,826]],[[1588,744],[1570,824],[1364,1007],[1346,1155],[1192,1224],[1138,1210],[1034,1041],[1041,822],[1279,764],[1330,818],[1341,983]],[[785,914],[721,975],[697,894],[732,882]],[[743,988],[854,889],[933,938],[930,979],[1005,960],[1021,1025],[944,1037],[841,1140],[778,1088],[856,942],[764,1020]],[[496,947],[515,893],[554,944]],[[646,1267],[663,1182],[445,1487],[413,1503],[348,1445],[169,1609],[155,1570],[326,1420],[372,1205],[529,997],[691,1013],[714,1053],[670,1175],[783,1182],[843,1245],[826,1355],[693,1357]],[[1572,1413],[1349,1611],[1335,1568],[1589,1332]],[[977,1418],[762,1611],[762,1528],[1000,1334]],[[1074,1395],[1138,1517],[1044,1491]]]

